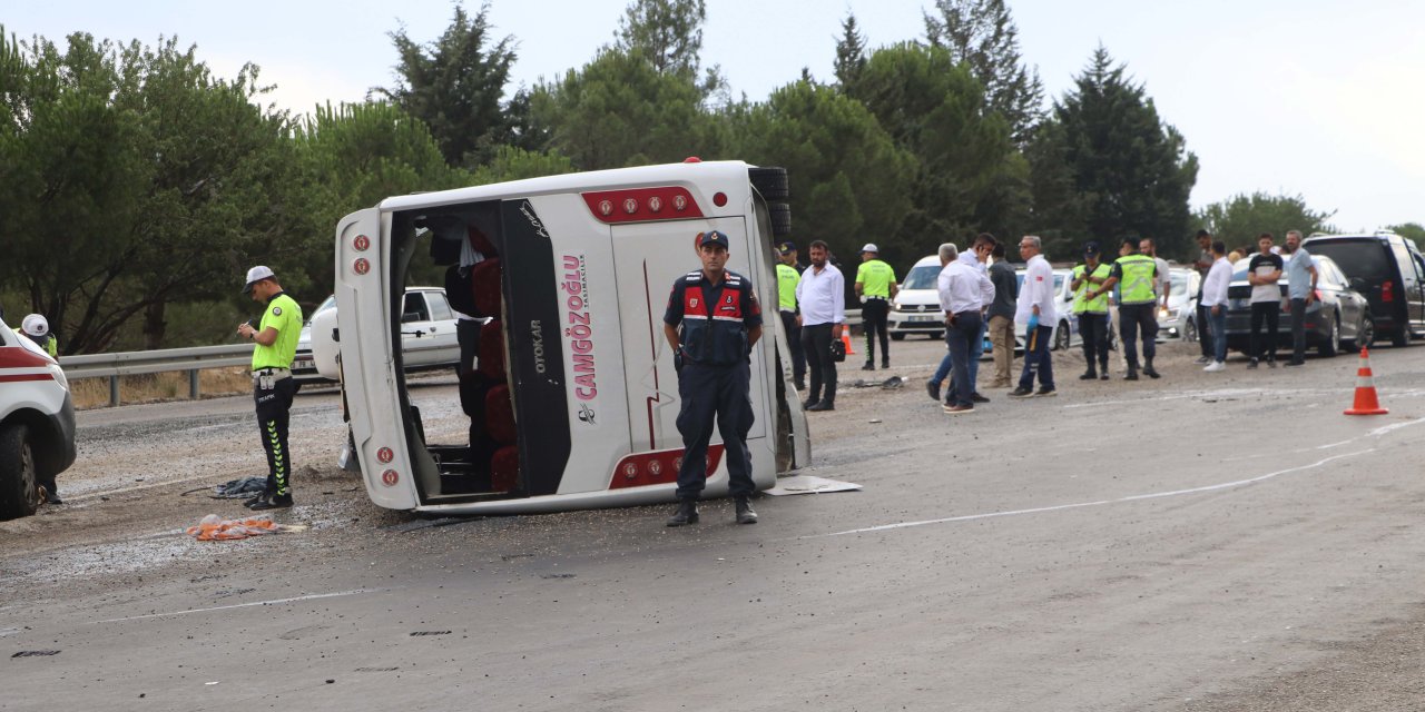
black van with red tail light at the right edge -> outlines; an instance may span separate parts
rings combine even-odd
[[[1425,333],[1425,258],[1415,244],[1394,232],[1372,235],[1311,235],[1301,242],[1312,255],[1325,255],[1371,302],[1375,333],[1395,346]]]

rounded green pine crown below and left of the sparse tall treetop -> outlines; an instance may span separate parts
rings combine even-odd
[[[876,50],[854,97],[918,158],[896,241],[923,253],[946,238],[1007,234],[1027,211],[1027,167],[1010,158],[1009,125],[986,110],[979,83],[946,48],[903,43]]]

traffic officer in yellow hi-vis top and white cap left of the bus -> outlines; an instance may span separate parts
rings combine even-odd
[[[296,384],[292,382],[292,357],[302,333],[302,308],[282,292],[276,275],[265,266],[248,271],[242,293],[266,305],[256,329],[238,326],[238,336],[256,343],[252,349],[252,400],[256,403],[258,430],[268,456],[268,481],[262,494],[247,501],[249,510],[275,510],[292,506],[292,453],[286,446],[288,410]]]

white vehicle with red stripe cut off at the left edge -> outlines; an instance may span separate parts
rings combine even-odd
[[[34,514],[74,464],[74,400],[60,363],[0,320],[0,520]]]

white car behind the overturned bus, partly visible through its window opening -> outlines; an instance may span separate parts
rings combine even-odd
[[[312,353],[312,325],[335,323],[336,296],[328,296],[302,326],[292,359],[292,377],[302,383],[331,383],[322,376]],[[408,373],[455,367],[460,362],[460,343],[455,333],[456,315],[439,286],[412,286],[400,308],[400,350]]]

